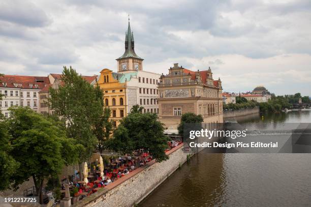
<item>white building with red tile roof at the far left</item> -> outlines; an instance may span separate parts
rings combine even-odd
[[[39,91],[48,85],[48,77],[4,75],[0,77],[0,109],[5,117],[9,117],[11,106],[30,107],[39,112]]]

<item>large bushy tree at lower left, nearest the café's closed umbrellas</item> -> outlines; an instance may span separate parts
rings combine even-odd
[[[67,139],[63,129],[52,119],[44,117],[32,109],[11,107],[7,119],[11,135],[11,156],[20,163],[11,177],[14,189],[32,177],[43,202],[42,188],[44,180],[56,177],[65,164],[76,162],[80,145]]]

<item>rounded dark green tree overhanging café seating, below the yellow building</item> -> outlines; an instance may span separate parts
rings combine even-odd
[[[168,159],[165,154],[168,140],[163,133],[163,124],[157,119],[157,114],[132,110],[114,130],[114,138],[108,141],[107,148],[123,154],[144,149],[158,162]]]

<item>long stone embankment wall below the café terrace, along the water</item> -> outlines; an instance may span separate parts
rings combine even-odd
[[[183,144],[168,151],[169,159],[163,162],[152,160],[129,175],[119,178],[112,184],[76,203],[75,207],[133,206],[144,199],[152,190],[165,181],[181,164],[187,154]]]

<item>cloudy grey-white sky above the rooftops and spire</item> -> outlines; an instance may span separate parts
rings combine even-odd
[[[0,73],[117,70],[130,14],[143,70],[207,70],[223,90],[311,95],[311,1],[2,0]]]

